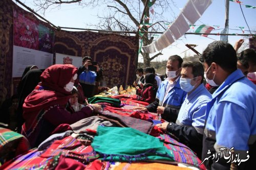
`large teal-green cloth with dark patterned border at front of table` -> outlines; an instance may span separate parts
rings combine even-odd
[[[163,141],[133,128],[99,126],[91,145],[101,159],[108,161],[174,161]]]

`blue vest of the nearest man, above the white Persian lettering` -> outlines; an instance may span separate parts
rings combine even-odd
[[[256,86],[244,77],[240,69],[212,94],[206,108],[206,137],[215,139],[214,148],[234,147],[247,155],[248,144],[256,140]],[[235,152],[236,152],[235,151]]]

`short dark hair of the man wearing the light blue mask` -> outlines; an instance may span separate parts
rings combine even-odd
[[[195,77],[201,76],[202,80],[201,83],[204,81],[204,66],[199,61],[187,61],[183,62],[181,65],[182,68],[185,67],[192,67],[192,74]]]

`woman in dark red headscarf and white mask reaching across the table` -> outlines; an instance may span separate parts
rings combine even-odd
[[[73,124],[100,110],[97,104],[83,107],[75,113],[66,110],[77,79],[76,73],[77,68],[70,64],[48,67],[40,76],[41,82],[25,99],[22,134],[32,147],[37,147],[60,124]]]

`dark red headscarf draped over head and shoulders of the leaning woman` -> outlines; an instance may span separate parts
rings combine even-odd
[[[23,129],[25,131],[36,125],[40,110],[68,103],[71,92],[66,91],[64,87],[76,72],[77,68],[71,64],[55,64],[42,72],[39,85],[47,90],[34,90],[25,99],[23,104],[25,119]]]

